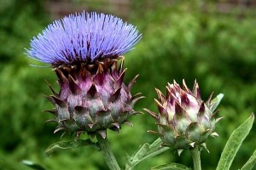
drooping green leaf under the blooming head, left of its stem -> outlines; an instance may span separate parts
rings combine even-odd
[[[96,149],[100,150],[100,147],[98,144],[93,143],[90,141],[90,139],[78,139],[78,140],[71,140],[71,141],[61,141],[57,142],[55,144],[51,144],[47,150],[45,150],[46,156],[50,156],[53,152],[58,150],[71,150],[74,148],[78,148],[80,146],[93,146],[96,147]]]

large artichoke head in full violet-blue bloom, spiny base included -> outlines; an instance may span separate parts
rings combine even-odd
[[[137,76],[125,85],[122,54],[140,39],[136,27],[113,15],[82,13],[56,20],[34,37],[27,54],[53,67],[60,91],[49,85],[47,99],[55,105],[47,110],[58,131],[81,133],[103,139],[107,129],[119,132],[121,124],[140,113],[133,106],[141,94],[131,95]],[[120,61],[120,62],[119,62]],[[48,83],[49,84],[49,83]]]

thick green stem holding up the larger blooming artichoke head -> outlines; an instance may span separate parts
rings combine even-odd
[[[101,147],[102,154],[110,170],[120,170],[119,164],[113,156],[112,150],[110,150],[108,139],[103,139],[100,134],[96,135],[98,143]]]

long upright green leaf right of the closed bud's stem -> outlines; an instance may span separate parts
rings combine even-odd
[[[252,114],[246,122],[242,123],[240,127],[236,128],[236,130],[230,135],[230,139],[224,147],[216,170],[230,169],[237,150],[240,148],[242,141],[247,137],[247,134],[253,127],[253,120],[254,115]]]

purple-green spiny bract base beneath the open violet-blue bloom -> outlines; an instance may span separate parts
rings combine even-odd
[[[58,122],[55,133],[99,133],[106,138],[106,130],[110,128],[119,132],[122,123],[131,124],[127,119],[140,112],[133,110],[133,105],[143,96],[131,96],[131,87],[135,77],[128,86],[123,79],[124,59],[117,66],[118,59],[105,59],[94,65],[73,65],[55,68],[61,86],[60,93],[51,88],[53,95],[47,97],[55,105],[49,112]]]

